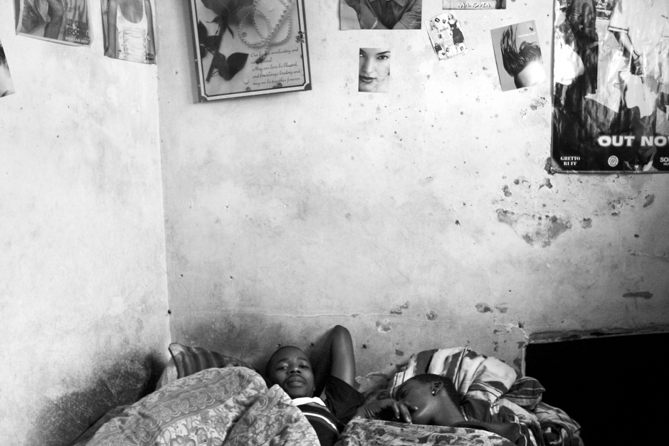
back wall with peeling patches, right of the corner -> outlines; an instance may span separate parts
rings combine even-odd
[[[549,84],[500,90],[490,30],[536,21],[548,70],[552,0],[460,11],[470,51],[441,63],[425,30],[340,32],[307,0],[314,89],[207,104],[186,3],[159,66],[174,341],[260,366],[343,324],[366,375],[669,323],[669,176],[550,175]],[[357,92],[360,47],[391,48],[390,93]]]

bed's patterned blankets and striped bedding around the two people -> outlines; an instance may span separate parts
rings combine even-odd
[[[158,388],[132,405],[110,410],[72,446],[318,446],[302,412],[278,386],[268,388],[239,359],[199,347],[171,344],[172,360]],[[363,386],[367,400],[388,398],[421,373],[451,378],[465,416],[517,423],[524,442],[476,428],[406,425],[353,418],[338,446],[482,445],[582,446],[580,426],[542,402],[544,388],[530,377],[468,347],[411,355],[393,376]],[[469,415],[467,415],[469,414]]]

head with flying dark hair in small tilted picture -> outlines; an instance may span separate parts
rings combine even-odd
[[[538,43],[526,41],[518,48],[516,31],[517,25],[512,25],[502,33],[500,49],[504,69],[513,77],[516,88],[540,84],[546,80],[541,48]]]

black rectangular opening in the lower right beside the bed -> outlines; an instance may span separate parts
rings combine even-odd
[[[530,344],[525,374],[581,425],[585,446],[669,444],[667,346],[669,333]]]

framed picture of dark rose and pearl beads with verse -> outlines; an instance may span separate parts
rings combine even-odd
[[[190,0],[200,101],[311,90],[301,0]]]

